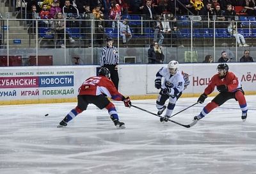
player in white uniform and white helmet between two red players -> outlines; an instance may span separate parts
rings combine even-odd
[[[166,114],[160,118],[160,122],[168,122],[168,118],[172,115],[175,104],[184,90],[184,77],[178,68],[179,63],[173,60],[168,63],[167,67],[162,67],[156,74],[155,87],[161,89],[156,100],[157,115],[160,116],[163,113],[166,109],[164,104],[169,99]]]

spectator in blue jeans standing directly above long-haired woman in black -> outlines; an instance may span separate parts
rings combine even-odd
[[[156,21],[153,23],[154,27],[154,42],[157,42],[157,39],[159,39],[158,45],[162,46],[164,41],[164,36],[161,33],[161,30],[163,29],[162,22],[161,22],[161,15],[156,15]]]

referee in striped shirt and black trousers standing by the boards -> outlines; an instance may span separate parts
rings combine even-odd
[[[111,81],[115,84],[116,90],[118,90],[118,50],[113,46],[113,38],[107,38],[107,45],[103,47],[101,51],[100,67],[106,67],[110,71]]]

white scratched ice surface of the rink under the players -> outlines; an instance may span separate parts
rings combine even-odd
[[[172,120],[191,123],[211,99]],[[179,99],[173,114],[196,100]],[[126,129],[116,129],[108,111],[93,105],[64,128],[56,126],[76,103],[0,106],[0,173],[256,173],[256,96],[246,100],[246,122],[229,100],[191,128],[160,123],[123,102],[114,103]],[[157,112],[155,100],[132,104]]]

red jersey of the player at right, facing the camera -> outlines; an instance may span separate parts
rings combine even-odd
[[[213,75],[209,85],[205,88],[204,93],[209,95],[214,90],[215,86],[225,84],[228,91],[235,91],[237,88],[241,88],[241,83],[233,72],[227,72],[227,75],[221,79],[219,74]]]

